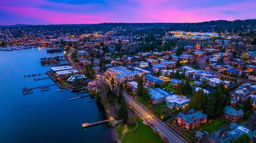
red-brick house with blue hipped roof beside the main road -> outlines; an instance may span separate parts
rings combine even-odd
[[[206,120],[207,115],[200,111],[196,111],[195,109],[189,110],[187,114],[180,112],[177,116],[177,123],[179,126],[187,130],[200,126],[201,124],[205,123]]]

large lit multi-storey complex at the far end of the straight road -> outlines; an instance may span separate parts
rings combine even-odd
[[[123,66],[108,68],[104,73],[109,79],[114,79],[115,82],[125,82],[142,77],[142,73],[138,71],[130,71]]]

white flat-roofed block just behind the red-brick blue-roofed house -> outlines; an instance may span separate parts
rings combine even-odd
[[[190,99],[182,95],[170,95],[165,97],[166,107],[176,108],[177,110],[184,109],[189,105]]]

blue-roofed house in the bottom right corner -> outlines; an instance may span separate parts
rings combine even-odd
[[[228,131],[216,132],[211,138],[210,143],[233,143],[242,134],[247,134],[251,141],[254,140],[254,134],[245,125],[231,123]]]

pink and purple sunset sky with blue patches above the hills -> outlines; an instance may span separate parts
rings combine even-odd
[[[0,0],[0,17],[0,25],[243,20],[256,18],[256,0]]]

